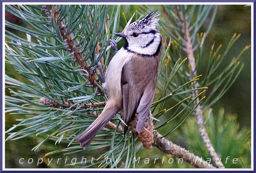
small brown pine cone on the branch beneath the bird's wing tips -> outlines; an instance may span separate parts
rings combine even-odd
[[[136,114],[136,116],[137,116],[137,114]],[[140,132],[140,133],[138,133],[136,131],[137,122],[138,122],[137,118],[134,118],[130,122],[129,127],[130,127],[131,131],[133,132],[133,134],[135,134],[135,136],[138,138],[138,140],[140,142],[142,142],[143,147],[151,150],[152,145],[154,143],[154,135],[153,135],[154,124],[153,124],[153,120],[150,118],[149,126],[147,126],[147,123],[145,123],[144,130],[142,130],[142,132]]]

